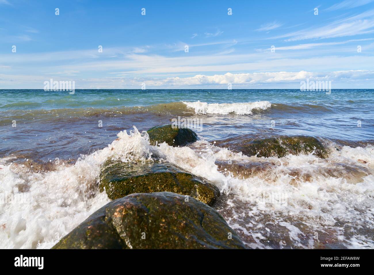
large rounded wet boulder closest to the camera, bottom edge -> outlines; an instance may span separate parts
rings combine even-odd
[[[245,248],[213,208],[171,192],[138,193],[97,210],[52,249]]]

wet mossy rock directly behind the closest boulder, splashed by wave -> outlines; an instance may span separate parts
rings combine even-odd
[[[152,161],[124,163],[107,160],[102,165],[99,190],[111,200],[133,193],[174,192],[212,206],[220,190],[208,180],[190,174],[171,163]]]

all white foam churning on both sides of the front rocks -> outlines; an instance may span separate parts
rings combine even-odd
[[[346,247],[374,248],[374,241],[362,232],[350,238],[347,232],[335,226],[340,221],[346,223],[351,228],[346,230],[351,232],[359,228],[362,231],[363,227],[374,229],[371,145],[365,148],[344,146],[325,160],[312,154],[257,158],[219,148],[205,140],[196,142],[194,149],[166,143],[151,146],[148,134],[139,133],[136,128],[129,135],[120,132],[118,137],[106,148],[82,157],[73,166],[61,165],[52,172],[33,173],[25,167],[0,162],[0,192],[31,194],[30,204],[0,205],[0,248],[52,247],[109,201],[105,192],[99,193],[97,188],[100,166],[108,157],[131,161],[150,158],[152,154],[205,177],[222,192],[233,196],[227,201],[227,207],[217,210],[232,228],[251,236],[252,241],[244,240],[249,247],[274,247],[266,241],[269,235],[279,233],[269,229],[273,226],[288,235],[287,240],[277,242],[281,248],[286,244],[311,248],[314,240],[310,232],[317,230],[334,235]],[[238,179],[218,171],[216,160],[269,161],[277,165],[248,179]],[[341,163],[364,167],[370,174],[362,176],[361,182],[352,182],[346,177],[329,177],[319,172],[337,169]],[[295,179],[290,175],[295,170],[310,173],[313,179],[309,182]],[[272,201],[274,195],[278,198],[284,195],[286,201],[277,198]],[[305,230],[300,229],[300,222],[306,226]],[[304,241],[305,238],[308,240]]]

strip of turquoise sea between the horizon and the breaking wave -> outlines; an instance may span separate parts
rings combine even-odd
[[[120,100],[118,100],[120,99]],[[324,106],[345,113],[370,110],[374,104],[374,89],[344,89],[325,92],[300,90],[76,90],[45,92],[44,90],[0,90],[0,111],[112,108],[120,106],[148,106],[178,101],[233,103],[270,101],[292,106],[304,104]],[[368,108],[368,109],[366,109]]]

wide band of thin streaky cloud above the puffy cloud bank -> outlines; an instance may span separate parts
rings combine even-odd
[[[0,67],[0,73],[17,74],[18,71],[22,71],[33,74],[37,70],[40,74],[47,74],[72,70],[79,71],[78,77],[93,77],[93,75],[105,77],[110,74],[128,77],[150,74],[181,76],[191,73],[300,71],[306,68],[313,68],[313,71],[373,68],[371,64],[374,64],[374,56],[370,53],[374,50],[374,44],[360,43],[362,53],[357,53],[357,46],[353,44],[346,44],[345,48],[335,47],[332,52],[328,47],[322,47],[323,45],[331,44],[309,43],[303,46],[280,47],[283,50],[277,50],[276,47],[275,53],[269,53],[268,50],[257,53],[235,53],[233,49],[226,48],[209,54],[183,53],[173,57],[129,53],[133,48],[104,48],[102,53],[98,53],[97,49],[30,54],[11,53],[9,50],[9,53],[0,55],[0,64],[10,68]],[[303,49],[287,50],[291,49],[289,47]],[[310,51],[308,50],[310,47],[321,47],[321,49]],[[141,48],[147,49],[145,46]]]

